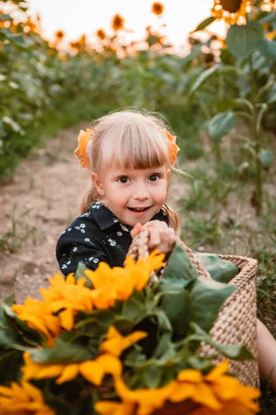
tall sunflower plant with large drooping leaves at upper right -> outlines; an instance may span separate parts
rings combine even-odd
[[[223,44],[217,50],[217,62],[197,76],[190,93],[197,93],[204,107],[206,126],[218,162],[221,142],[236,126],[237,118],[243,117],[249,122],[250,136],[233,133],[231,137],[237,139],[248,154],[249,164],[246,160],[241,167],[252,165],[255,171],[251,201],[258,215],[263,207],[264,174],[274,163],[273,151],[266,148],[262,137],[261,124],[276,102],[275,0],[214,0],[210,16],[201,21],[195,32],[219,20],[226,24],[226,39],[221,39]],[[217,80],[213,92],[206,80]],[[210,93],[217,97],[213,113],[208,111],[210,103],[204,106],[202,102],[202,91],[206,89],[209,98]]]

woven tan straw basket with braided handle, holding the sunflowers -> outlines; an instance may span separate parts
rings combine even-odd
[[[141,232],[133,239],[128,250],[136,261],[137,259],[148,256],[148,230],[142,228]],[[197,273],[203,278],[210,279],[210,275],[204,269],[199,259],[195,258],[192,250],[181,241],[186,250],[190,261],[197,269]],[[219,344],[244,344],[253,356],[257,357],[257,305],[255,294],[255,273],[257,270],[257,260],[239,257],[236,255],[218,255],[221,259],[231,261],[239,268],[237,274],[230,282],[239,288],[231,294],[221,307],[217,320],[210,330],[210,335]],[[157,275],[154,272],[150,275],[150,280],[155,281]],[[215,350],[208,344],[202,343],[199,352],[208,356]],[[219,356],[214,362],[225,360],[224,356]],[[259,370],[257,360],[230,360],[229,371],[235,374],[244,385],[259,387]],[[158,412],[158,414],[165,412]]]

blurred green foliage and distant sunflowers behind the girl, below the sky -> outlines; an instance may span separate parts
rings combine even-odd
[[[34,145],[61,127],[118,107],[161,113],[184,139],[185,158],[203,154],[199,130],[205,130],[218,164],[222,138],[235,127],[237,116],[250,116],[242,102],[250,100],[253,91],[250,65],[243,56],[235,57],[235,51],[230,53],[225,39],[211,35],[201,42],[191,34],[190,54],[180,57],[150,26],[143,46],[141,42],[124,44],[120,38],[124,18],[115,15],[113,35],[108,37],[99,29],[97,47],[82,35],[64,50],[59,46],[66,34],[59,30],[52,42],[43,39],[40,17],[28,17],[28,3],[2,3],[8,3],[10,12],[0,11],[0,181],[12,176],[14,167]],[[264,48],[254,50],[252,42],[244,47],[253,48],[250,59],[255,89],[267,103],[262,125],[275,130],[275,10],[263,11],[262,2],[257,3],[248,19],[259,24],[261,37],[270,37],[268,46],[273,47],[266,54],[262,53]],[[153,3],[152,12],[160,15],[163,5]],[[214,19],[209,17],[207,24]],[[207,24],[199,25],[199,30]],[[252,39],[255,33],[249,35]],[[246,152],[246,142],[239,147]],[[237,169],[250,169],[246,164],[250,151],[248,148],[247,156],[237,156]],[[261,156],[263,167],[270,167],[271,152]]]

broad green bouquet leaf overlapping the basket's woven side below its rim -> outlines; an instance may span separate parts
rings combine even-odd
[[[190,321],[209,331],[225,300],[236,288],[212,279],[198,278],[190,291]]]

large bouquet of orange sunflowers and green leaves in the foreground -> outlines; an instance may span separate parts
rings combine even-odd
[[[242,345],[212,340],[235,287],[203,279],[180,244],[124,268],[79,264],[57,274],[42,300],[0,306],[0,415],[256,414],[259,390],[228,374]],[[225,360],[202,356],[211,344]]]

